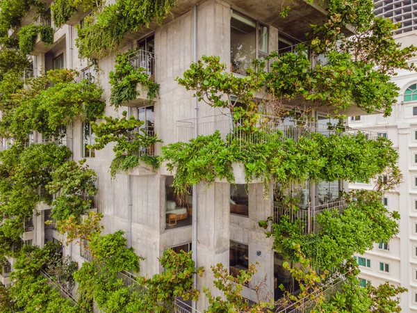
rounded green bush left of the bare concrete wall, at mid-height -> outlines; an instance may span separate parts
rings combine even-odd
[[[67,220],[71,216],[80,218],[81,214],[91,209],[92,197],[97,193],[97,176],[84,163],[85,159],[78,163],[65,162],[54,171],[52,181],[47,184],[49,193],[57,194],[51,210],[54,220]]]

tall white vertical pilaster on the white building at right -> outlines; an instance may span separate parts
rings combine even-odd
[[[400,124],[398,125],[398,154],[400,154],[400,159],[398,164],[400,166],[400,170],[402,175],[404,175],[404,182],[409,182],[412,177],[409,177],[409,142],[410,139],[410,128],[409,124]],[[414,182],[411,182],[414,184]],[[412,185],[411,185],[412,186]],[[408,184],[400,184],[399,193],[403,195],[407,195],[409,193]],[[409,197],[398,197],[398,208],[400,209],[400,280],[401,280],[401,287],[405,287],[410,289],[410,266],[409,266],[409,259],[411,255],[409,255],[409,234],[411,230],[409,229],[409,207],[412,204],[409,204]],[[409,307],[409,293],[404,292],[401,294],[400,298],[400,306],[403,308]]]

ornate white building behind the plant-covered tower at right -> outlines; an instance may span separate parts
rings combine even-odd
[[[403,47],[417,45],[417,1],[375,1],[375,14],[401,23],[395,39]],[[357,262],[363,284],[368,281],[377,286],[388,281],[409,289],[401,296],[402,312],[407,313],[417,312],[417,73],[398,71],[392,81],[400,95],[391,116],[351,117],[349,126],[386,136],[400,154],[403,182],[398,193],[387,193],[382,200],[391,211],[400,213],[400,233],[389,243],[377,243],[373,250],[357,255]],[[356,182],[349,188],[373,188],[373,184]]]

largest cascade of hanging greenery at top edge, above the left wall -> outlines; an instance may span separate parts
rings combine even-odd
[[[174,3],[175,0],[116,0],[97,17],[85,20],[82,29],[78,28],[79,56],[103,56],[106,50],[116,49],[129,31],[140,31],[155,19],[162,22]]]

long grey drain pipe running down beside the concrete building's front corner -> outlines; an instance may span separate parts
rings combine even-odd
[[[197,6],[193,7],[193,61],[197,62]],[[194,136],[198,136],[198,99],[195,97],[194,102]],[[197,270],[197,185],[193,186],[193,261],[195,262],[195,269]],[[193,275],[194,288],[197,289],[197,274]],[[196,311],[197,302],[193,301],[193,313]]]

